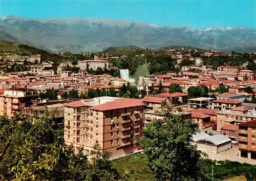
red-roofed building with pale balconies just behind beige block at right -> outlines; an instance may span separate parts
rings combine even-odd
[[[217,99],[212,101],[212,109],[215,110],[228,110],[239,106],[242,106],[242,102],[233,99]]]

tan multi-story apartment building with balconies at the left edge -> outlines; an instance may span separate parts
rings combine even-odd
[[[0,115],[13,117],[14,112],[23,111],[24,108],[37,106],[38,94],[35,90],[16,88],[6,89],[0,95]]]

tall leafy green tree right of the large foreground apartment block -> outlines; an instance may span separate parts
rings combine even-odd
[[[147,124],[139,143],[146,155],[147,166],[157,180],[209,180],[200,160],[201,151],[190,144],[198,125],[172,114],[166,104],[158,112],[164,124],[154,121]]]

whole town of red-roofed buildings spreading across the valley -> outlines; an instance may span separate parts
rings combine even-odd
[[[63,124],[65,144],[74,146],[75,153],[89,155],[99,144],[116,160],[143,152],[137,140],[148,124],[165,123],[159,114],[165,105],[172,115],[198,126],[190,144],[209,159],[255,164],[256,53],[238,66],[206,63],[241,56],[236,53],[173,47],[162,54],[164,63],[173,63],[169,71],[160,73],[155,67],[156,74],[135,78],[140,68],[120,66],[124,55],[94,53],[56,63],[41,54],[1,53],[0,115],[30,120],[50,116],[56,125]],[[140,57],[146,56],[132,58]]]

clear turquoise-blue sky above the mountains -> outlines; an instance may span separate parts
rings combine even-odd
[[[256,0],[0,0],[0,16],[99,17],[155,25],[256,28]]]

